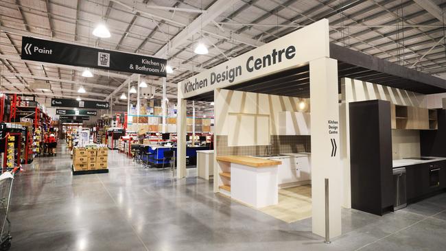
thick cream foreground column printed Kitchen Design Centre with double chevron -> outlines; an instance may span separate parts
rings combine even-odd
[[[337,61],[319,58],[309,62],[309,83],[312,114],[312,231],[316,235],[325,236],[325,178],[329,178],[329,232],[330,237],[336,237],[341,234],[342,169],[339,128],[329,129],[329,125],[339,127]],[[332,156],[331,140],[338,145],[335,156]]]

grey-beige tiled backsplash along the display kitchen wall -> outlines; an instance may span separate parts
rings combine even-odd
[[[228,146],[228,136],[217,135],[218,155],[263,155],[268,154],[268,145]],[[310,152],[311,136],[271,135],[271,154]]]

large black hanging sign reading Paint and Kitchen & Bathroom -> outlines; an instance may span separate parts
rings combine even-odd
[[[91,67],[165,77],[167,60],[132,53],[108,51],[50,40],[22,37],[23,60]]]

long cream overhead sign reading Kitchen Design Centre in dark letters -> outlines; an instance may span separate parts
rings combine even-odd
[[[285,69],[329,58],[328,21],[312,25],[248,51],[181,82],[182,98],[193,97]]]

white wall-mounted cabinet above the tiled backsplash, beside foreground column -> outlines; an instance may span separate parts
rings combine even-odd
[[[279,112],[280,135],[310,135],[310,113],[309,112]]]

